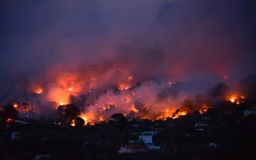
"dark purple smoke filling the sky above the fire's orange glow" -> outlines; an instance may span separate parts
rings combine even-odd
[[[255,11],[253,0],[6,0],[0,73],[40,77],[56,64],[107,61],[135,76],[210,72],[232,82],[255,72]]]

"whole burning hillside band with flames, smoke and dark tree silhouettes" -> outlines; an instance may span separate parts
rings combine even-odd
[[[110,120],[114,113],[122,113],[126,118],[166,120],[204,113],[221,99],[236,104],[244,100],[238,94],[230,94],[225,84],[196,94],[183,91],[181,86],[187,85],[184,81],[138,79],[121,69],[110,71],[99,75],[92,69],[88,69],[87,74],[50,72],[46,74],[50,81],[36,84],[31,81],[25,87],[28,88],[26,98],[13,99],[13,106],[27,118],[47,109],[47,114],[57,115],[59,120],[74,124],[75,118],[80,117],[87,124]]]

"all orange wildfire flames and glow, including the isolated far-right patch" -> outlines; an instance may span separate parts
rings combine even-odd
[[[39,86],[33,86],[31,92],[43,93],[39,96],[55,103],[57,108],[59,105],[75,103],[81,111],[76,116],[85,120],[85,124],[108,120],[110,115],[114,113],[129,115],[131,116],[130,118],[166,120],[166,118],[178,118],[183,115],[192,114],[195,110],[201,114],[208,110],[207,105],[203,105],[201,108],[195,107],[195,110],[181,108],[181,103],[185,98],[173,98],[167,92],[168,96],[161,96],[159,93],[161,93],[163,88],[154,86],[154,81],[142,79],[142,81],[139,80],[139,85],[135,85],[133,83],[136,82],[134,81],[135,78],[130,73],[122,69],[118,69],[117,72],[117,68],[113,71],[116,74],[113,76],[114,79],[109,74],[108,76],[106,74],[104,76],[97,76],[97,70],[87,74],[55,73],[53,76],[54,80],[50,82],[50,85],[40,84]],[[116,76],[117,79],[115,79]],[[105,81],[107,82],[105,83]],[[110,90],[108,86],[112,86],[113,81],[113,86],[117,85],[117,88],[111,88]],[[164,86],[168,88],[174,84],[176,82],[166,81]],[[146,87],[141,87],[143,85]],[[41,86],[46,86],[46,88]],[[115,92],[116,89],[119,91]],[[227,101],[236,104],[242,103],[243,99],[244,97],[237,95],[227,97]],[[135,103],[137,101],[142,102],[142,105],[137,105]],[[21,103],[14,103],[14,108],[20,113],[34,110],[33,105],[23,106]],[[71,125],[75,125],[74,120],[71,122]]]

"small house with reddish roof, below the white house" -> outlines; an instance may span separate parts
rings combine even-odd
[[[125,144],[124,146],[121,144],[121,147],[118,151],[119,154],[137,154],[146,152],[146,147],[139,146],[137,144]]]

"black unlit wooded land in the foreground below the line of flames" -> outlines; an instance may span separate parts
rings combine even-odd
[[[256,159],[256,115],[241,106],[168,120],[110,120],[97,125],[56,125],[55,120],[1,118],[1,159]],[[247,107],[248,109],[248,107]],[[202,123],[203,126],[196,126]],[[154,130],[161,149],[118,154],[121,144],[138,141],[134,132]],[[18,132],[16,135],[15,132]],[[139,143],[139,142],[138,142]],[[139,144],[145,145],[145,144]]]

